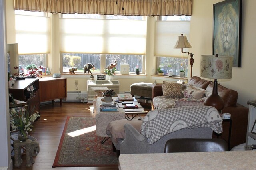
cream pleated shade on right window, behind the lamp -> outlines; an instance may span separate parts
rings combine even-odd
[[[181,34],[187,36],[189,41],[190,21],[156,21],[154,56],[182,57],[181,49],[174,48]]]

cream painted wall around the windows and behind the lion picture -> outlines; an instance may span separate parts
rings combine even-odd
[[[192,48],[189,50],[194,54],[193,75],[200,75],[200,56],[204,54],[212,54],[212,25],[213,25],[213,4],[221,2],[222,0],[193,0],[191,30],[190,30],[190,44]],[[14,29],[14,12],[12,11],[13,1],[7,1],[7,42],[15,43],[15,29]],[[256,78],[254,74],[256,69],[256,57],[254,57],[253,48],[255,45],[256,34],[254,22],[256,16],[254,14],[254,7],[256,1],[243,0],[242,1],[242,49],[241,49],[241,68],[233,67],[232,79],[226,81],[222,80],[221,85],[238,91],[238,103],[247,106],[247,100],[254,100],[256,98],[256,91],[254,85]],[[52,16],[54,23],[51,27],[58,27],[58,14]],[[162,81],[176,81],[169,78],[152,77],[155,71],[156,59],[154,57],[154,20],[156,17],[149,17],[148,19],[148,36],[147,36],[147,58],[146,58],[146,75],[115,75],[114,79],[120,81],[120,91],[130,91],[130,85],[137,82],[150,82],[155,80],[157,83]],[[49,56],[48,64],[52,73],[60,72],[60,57],[58,48],[58,32],[52,32],[51,55]],[[251,44],[251,45],[250,45]],[[188,68],[190,71],[190,67]],[[190,75],[190,73],[188,73]],[[68,91],[76,91],[74,85],[75,80],[78,80],[79,91],[87,91],[87,80],[89,75],[62,75],[68,78]]]

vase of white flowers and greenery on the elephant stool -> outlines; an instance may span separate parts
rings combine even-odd
[[[18,139],[20,142],[24,142],[28,139],[28,132],[32,131],[32,123],[39,117],[39,113],[33,113],[29,115],[25,107],[14,107],[10,109],[10,125],[11,130],[18,129]]]

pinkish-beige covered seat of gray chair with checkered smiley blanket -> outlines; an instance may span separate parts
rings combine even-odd
[[[117,157],[120,155],[120,143],[125,138],[124,125],[126,123],[131,124],[138,132],[140,132],[140,126],[143,119],[120,119],[112,121],[106,128],[106,134],[110,135],[110,139],[113,144],[113,150],[116,151]]]

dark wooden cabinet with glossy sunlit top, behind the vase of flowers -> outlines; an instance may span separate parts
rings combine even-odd
[[[38,77],[16,80],[9,93],[14,99],[27,103],[30,115],[40,111]]]

